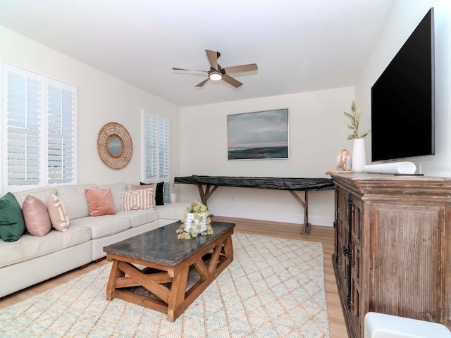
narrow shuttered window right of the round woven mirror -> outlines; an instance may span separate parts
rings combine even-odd
[[[143,182],[169,181],[169,119],[142,110]]]

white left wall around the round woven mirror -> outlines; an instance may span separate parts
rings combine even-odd
[[[140,181],[141,109],[171,120],[171,175],[180,171],[180,108],[0,26],[0,59],[78,86],[78,182]],[[114,170],[97,153],[97,134],[121,123],[132,137],[130,163]],[[4,168],[4,165],[2,165]]]

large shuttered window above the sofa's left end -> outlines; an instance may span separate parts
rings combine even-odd
[[[2,192],[75,184],[77,88],[1,63]]]

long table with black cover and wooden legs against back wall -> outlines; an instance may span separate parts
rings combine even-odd
[[[309,234],[309,190],[333,190],[333,180],[330,178],[299,178],[299,177],[232,177],[232,176],[204,176],[192,175],[174,177],[175,183],[197,184],[202,204],[207,205],[211,194],[218,187],[240,187],[254,189],[286,190],[292,194],[296,201],[304,208],[304,225],[301,234]],[[205,186],[205,188],[204,188]],[[212,187],[212,189],[210,189]],[[304,200],[296,193],[304,192]]]

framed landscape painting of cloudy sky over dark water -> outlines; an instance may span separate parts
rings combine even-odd
[[[288,157],[288,109],[227,116],[229,160]]]

